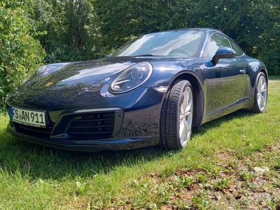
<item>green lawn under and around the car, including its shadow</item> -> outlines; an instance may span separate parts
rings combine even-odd
[[[75,153],[34,146],[7,134],[8,117],[1,115],[0,209],[204,209],[216,205],[218,199],[211,199],[211,193],[223,200],[224,192],[235,186],[235,181],[245,186],[241,190],[261,190],[263,186],[249,186],[259,178],[252,175],[252,167],[260,164],[269,165],[269,189],[278,190],[279,153],[265,151],[260,158],[247,158],[258,157],[266,148],[279,144],[279,108],[280,80],[273,78],[269,80],[265,113],[239,111],[202,125],[188,147],[179,152],[144,148]],[[227,175],[234,174],[240,165],[246,167],[238,176]],[[236,196],[223,202],[249,207],[246,193],[242,203]],[[272,196],[267,205],[276,208],[277,202]]]

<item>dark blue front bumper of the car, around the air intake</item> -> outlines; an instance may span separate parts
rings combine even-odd
[[[157,145],[160,136],[160,112],[164,92],[158,92],[152,87],[141,87],[130,94],[133,97],[120,95],[115,107],[112,107],[113,103],[110,103],[109,98],[107,104],[110,104],[110,106],[102,109],[97,108],[97,104],[92,107],[87,106],[86,109],[64,109],[64,107],[62,107],[63,109],[58,107],[55,110],[45,109],[48,113],[47,121],[50,125],[52,124],[51,133],[48,137],[38,136],[31,132],[21,132],[12,122],[9,123],[7,131],[15,137],[33,144],[69,151],[124,150]],[[122,97],[125,97],[125,99],[122,99]],[[122,101],[127,100],[127,97],[130,98],[129,103],[123,104]],[[16,105],[8,103],[8,106]],[[36,109],[36,106],[21,108]],[[73,116],[78,116],[81,113],[90,115],[104,111],[116,113],[111,137],[79,139],[77,136],[72,137],[67,132]],[[117,117],[118,119],[116,119]]]

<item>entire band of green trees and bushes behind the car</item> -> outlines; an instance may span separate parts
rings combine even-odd
[[[0,0],[0,107],[42,57],[96,59],[142,34],[184,27],[221,29],[280,74],[279,0]]]

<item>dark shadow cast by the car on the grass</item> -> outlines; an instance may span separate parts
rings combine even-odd
[[[235,118],[244,118],[253,113],[238,111],[214,120],[194,131],[194,136],[203,134],[212,127]],[[22,142],[0,130],[0,170],[8,174],[28,176],[29,179],[63,180],[75,177],[92,177],[108,174],[116,167],[132,167],[145,162],[173,155],[157,146],[131,151],[102,151],[82,153],[61,151]],[[188,148],[187,148],[188,149]]]

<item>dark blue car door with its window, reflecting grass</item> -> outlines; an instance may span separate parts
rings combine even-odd
[[[206,113],[216,113],[237,104],[244,97],[244,84],[246,83],[246,60],[241,56],[220,59],[216,65],[211,59],[218,48],[232,48],[230,40],[222,34],[212,34],[207,54],[207,99]]]

